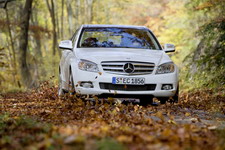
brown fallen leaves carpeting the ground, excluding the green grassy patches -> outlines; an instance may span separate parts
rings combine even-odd
[[[204,122],[211,115],[224,115],[224,89],[182,93],[178,104],[140,106],[121,104],[113,99],[85,100],[66,96],[58,98],[57,87],[45,82],[37,90],[7,94],[0,99],[1,113],[28,115],[55,125],[64,138],[62,145],[87,139],[112,137],[129,149],[221,149],[215,129]],[[179,119],[177,119],[179,118]],[[185,123],[189,119],[190,122]],[[27,133],[29,134],[29,133]],[[77,139],[78,138],[78,139]],[[82,139],[81,141],[83,141]]]

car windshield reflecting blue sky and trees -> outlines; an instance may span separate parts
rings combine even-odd
[[[78,47],[160,49],[148,30],[134,28],[84,28]]]

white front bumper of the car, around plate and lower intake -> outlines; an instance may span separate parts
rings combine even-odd
[[[78,68],[72,68],[73,79],[75,84],[75,90],[81,95],[102,95],[102,94],[118,94],[118,95],[152,95],[155,97],[170,97],[174,96],[177,91],[178,85],[178,71],[177,69],[173,73],[168,74],[152,74],[148,75],[135,75],[124,76],[110,73],[94,73],[88,71],[82,71]],[[156,84],[155,90],[145,91],[124,91],[124,90],[108,90],[101,89],[99,83],[112,83],[113,77],[141,77],[145,78],[145,84]],[[80,86],[81,82],[91,82],[93,88],[84,88]],[[163,84],[172,84],[173,89],[162,90]]]

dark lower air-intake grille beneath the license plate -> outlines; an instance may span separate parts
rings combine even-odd
[[[119,85],[112,83],[99,83],[101,89],[116,91],[154,91],[156,84],[145,85]]]

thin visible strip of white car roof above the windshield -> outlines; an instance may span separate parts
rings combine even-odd
[[[136,28],[136,29],[147,29],[145,26],[134,26],[134,25],[107,25],[107,24],[84,24],[83,28]]]

